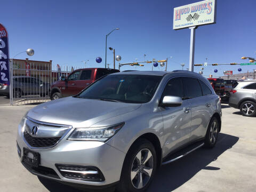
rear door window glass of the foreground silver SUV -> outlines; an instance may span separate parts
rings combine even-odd
[[[202,90],[196,78],[183,77],[184,99],[192,99],[202,96]]]

